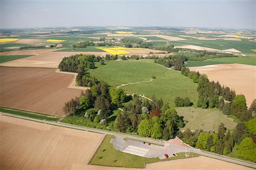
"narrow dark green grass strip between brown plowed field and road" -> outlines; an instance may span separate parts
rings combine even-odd
[[[6,108],[6,107],[0,107],[0,112],[21,115],[24,117],[34,118],[39,120],[57,121],[59,119],[57,117],[54,117],[53,115],[48,115],[43,113],[33,113],[33,112],[22,111],[22,110],[17,110],[14,108]]]

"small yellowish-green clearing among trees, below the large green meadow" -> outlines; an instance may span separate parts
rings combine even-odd
[[[194,108],[194,107],[178,107],[178,114],[184,117],[185,127],[181,130],[204,129],[218,131],[220,123],[224,123],[229,130],[237,125],[233,118],[228,118],[227,115],[221,113],[216,108]]]

